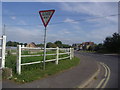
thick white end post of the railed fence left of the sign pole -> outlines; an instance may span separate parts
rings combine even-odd
[[[21,74],[21,45],[17,46],[17,73]]]

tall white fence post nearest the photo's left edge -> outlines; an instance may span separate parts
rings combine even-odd
[[[1,67],[5,67],[5,50],[6,50],[6,36],[2,36],[2,64]]]

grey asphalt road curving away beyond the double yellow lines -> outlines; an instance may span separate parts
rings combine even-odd
[[[89,56],[90,59],[93,58],[96,61],[107,64],[111,70],[111,75],[106,88],[118,88],[118,73],[120,73],[120,70],[118,69],[118,64],[120,64],[120,56],[87,53],[80,51],[75,51],[75,55]]]

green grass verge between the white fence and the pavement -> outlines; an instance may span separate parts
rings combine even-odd
[[[41,64],[23,66],[22,74],[21,75],[15,74],[13,79],[17,78],[15,79],[15,81],[21,82],[21,83],[31,82],[31,81],[41,79],[43,77],[50,76],[58,72],[64,71],[73,66],[76,66],[77,64],[79,64],[79,59],[74,58],[72,60],[69,60],[69,59],[61,60],[59,61],[58,65],[56,65],[55,62],[46,63],[46,70],[42,70],[40,68]]]

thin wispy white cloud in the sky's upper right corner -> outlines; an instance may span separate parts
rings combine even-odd
[[[118,14],[117,3],[102,3],[102,2],[89,2],[89,3],[61,3],[60,8],[64,11],[73,12],[76,14],[86,14],[94,17],[109,16]],[[111,22],[117,23],[117,17],[104,18]]]

